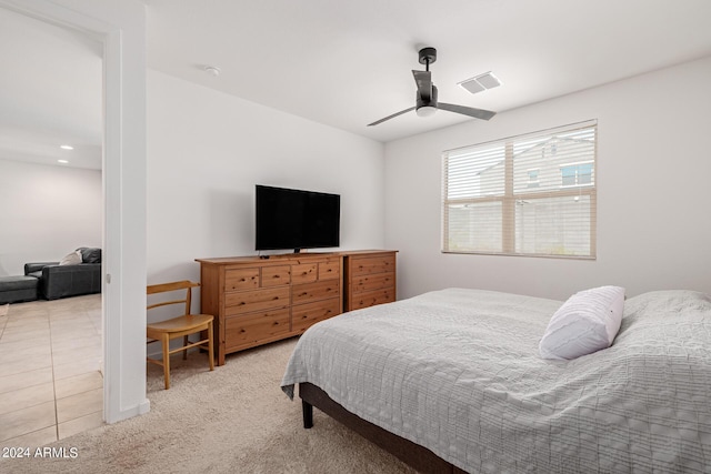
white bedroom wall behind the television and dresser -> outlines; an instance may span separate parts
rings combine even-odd
[[[148,98],[149,283],[256,254],[254,184],[341,194],[341,249],[382,248],[381,143],[153,70]]]

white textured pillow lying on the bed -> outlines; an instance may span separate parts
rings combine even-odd
[[[600,286],[573,294],[553,314],[539,351],[543,359],[575,359],[612,344],[620,331],[624,289]]]

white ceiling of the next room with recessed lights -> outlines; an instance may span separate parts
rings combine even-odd
[[[0,8],[0,159],[100,169],[101,58],[84,34]]]

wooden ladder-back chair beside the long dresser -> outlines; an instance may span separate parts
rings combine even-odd
[[[157,360],[147,357],[148,362],[163,366],[163,376],[166,379],[166,390],[170,389],[170,354],[182,351],[182,359],[188,359],[188,350],[191,347],[204,347],[208,350],[208,359],[210,361],[210,370],[214,370],[214,354],[212,352],[212,320],[213,316],[209,314],[190,314],[190,303],[192,296],[192,289],[200,286],[200,283],[193,283],[190,281],[181,281],[173,283],[162,283],[148,285],[148,294],[164,293],[184,290],[186,296],[182,300],[163,301],[160,303],[149,304],[148,310],[153,307],[166,306],[170,304],[184,304],[184,312],[182,316],[173,317],[171,320],[160,321],[157,323],[149,323],[146,334],[149,339],[148,343],[161,342],[163,349],[163,360]],[[207,339],[202,339],[202,332],[207,331]],[[190,334],[200,333],[200,341],[190,343],[188,339]],[[170,350],[170,341],[182,336],[182,346]]]

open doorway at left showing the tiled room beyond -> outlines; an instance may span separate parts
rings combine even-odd
[[[0,271],[22,275],[24,263],[102,246],[103,44],[0,8],[0,60],[11,71],[0,78]],[[39,288],[0,323],[2,445],[40,446],[103,423],[101,294],[77,295],[100,285],[91,266],[77,268],[77,280],[91,280],[69,291],[67,278],[48,274],[47,297],[72,296],[48,301]]]

